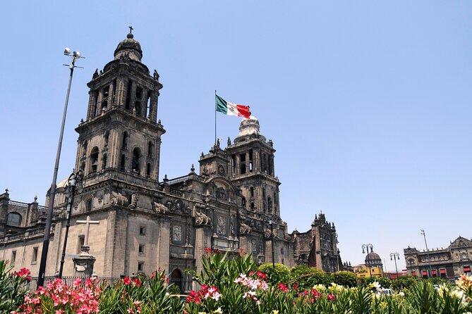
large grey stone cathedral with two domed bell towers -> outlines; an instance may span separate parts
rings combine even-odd
[[[166,132],[157,118],[163,85],[142,56],[130,32],[87,84],[87,116],[75,129],[82,188],[71,198],[67,179],[56,185],[46,276],[59,269],[68,208],[65,276],[92,269],[100,277],[162,269],[188,291],[185,270],[202,269],[205,248],[252,253],[259,265],[340,270],[336,229],[324,214],[308,232],[289,233],[281,218],[274,143],[260,133],[254,117],[241,121],[225,148],[218,141],[202,153],[199,165],[185,175],[159,180]],[[12,201],[8,190],[0,194],[0,258],[37,274],[46,215],[36,199],[23,203]],[[80,264],[84,257],[93,263]]]

